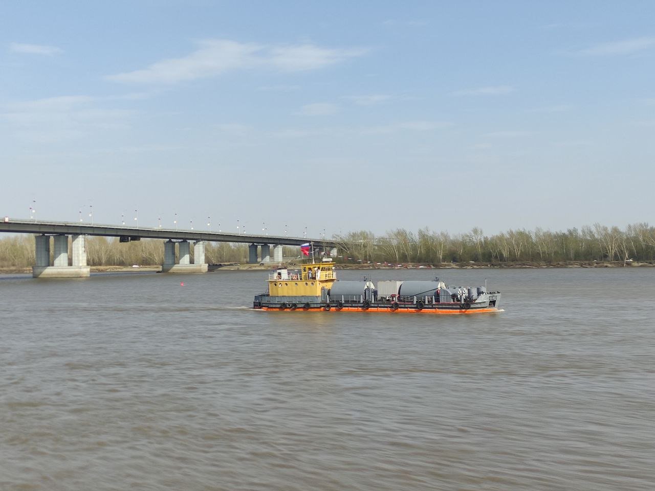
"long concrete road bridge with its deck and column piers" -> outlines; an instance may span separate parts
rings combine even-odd
[[[282,246],[300,246],[313,243],[315,248],[337,254],[337,243],[310,237],[280,237],[279,235],[245,235],[198,230],[172,230],[164,228],[129,228],[124,226],[83,224],[77,222],[44,222],[0,218],[0,232],[35,234],[36,253],[32,276],[35,278],[88,277],[90,267],[86,262],[86,236],[102,235],[119,237],[121,242],[141,239],[164,239],[164,273],[204,273],[206,242],[247,243],[248,262],[282,262]],[[54,241],[54,261],[50,263],[50,238]],[[71,258],[68,257],[68,241],[72,240]],[[193,242],[193,263],[191,243]],[[271,261],[271,247],[273,250]],[[178,261],[176,262],[176,249]]]

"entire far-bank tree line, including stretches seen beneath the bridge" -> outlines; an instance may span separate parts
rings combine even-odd
[[[383,237],[370,231],[353,231],[335,236],[339,243],[337,262],[424,263],[438,265],[453,262],[584,262],[653,261],[655,228],[633,224],[625,229],[601,224],[553,232],[536,228],[510,229],[485,235],[480,228],[450,235],[447,231],[419,229],[416,233],[398,228]],[[158,265],[164,262],[164,241],[143,239],[120,243],[117,237],[87,237],[88,264]],[[320,247],[320,244],[316,244]],[[70,246],[69,246],[70,247]],[[191,248],[193,255],[193,247]],[[29,267],[34,264],[35,240],[32,235],[0,239],[0,267]],[[70,252],[70,251],[69,251]],[[300,256],[299,248],[284,246],[285,258]],[[208,263],[244,263],[248,245],[243,243],[206,243]]]

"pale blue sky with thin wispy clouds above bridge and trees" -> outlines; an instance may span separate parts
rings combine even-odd
[[[327,237],[652,217],[652,1],[0,3],[0,215]]]

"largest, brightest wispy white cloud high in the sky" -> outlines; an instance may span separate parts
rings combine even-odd
[[[144,69],[107,78],[135,84],[176,84],[256,67],[280,71],[315,70],[366,52],[356,48],[322,48],[314,44],[267,46],[225,39],[210,39],[199,45],[198,50],[182,58],[163,59]]]

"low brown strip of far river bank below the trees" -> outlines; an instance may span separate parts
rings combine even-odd
[[[301,264],[285,263],[289,269],[299,269]],[[570,262],[557,262],[557,263],[536,263],[536,262],[515,262],[515,263],[443,263],[441,265],[426,265],[421,263],[403,263],[402,265],[389,265],[389,264],[348,264],[348,263],[335,263],[337,269],[565,269],[565,268],[599,268],[599,267],[652,267],[655,262],[624,262],[622,261],[570,261]],[[269,270],[276,267],[276,263],[265,264],[212,264],[210,265],[210,272],[212,271],[258,271]],[[138,267],[133,266],[91,266],[92,273],[138,273],[150,272],[156,273],[161,271],[159,265],[143,265]],[[30,267],[0,267],[0,275],[22,274],[31,273]]]

